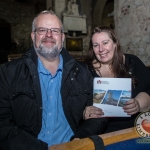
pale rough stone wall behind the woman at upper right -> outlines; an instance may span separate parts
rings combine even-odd
[[[115,31],[124,53],[150,66],[150,1],[115,0]]]

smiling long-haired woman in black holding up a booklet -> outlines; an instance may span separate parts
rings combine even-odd
[[[133,127],[139,112],[150,110],[150,71],[138,57],[122,53],[119,41],[109,27],[94,29],[86,62],[93,78],[132,78],[132,98],[123,107],[131,117],[107,118],[104,133]],[[85,119],[101,118],[103,115],[103,110],[95,106],[84,111]]]

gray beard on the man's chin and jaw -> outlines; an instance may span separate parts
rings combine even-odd
[[[58,49],[57,45],[54,45],[53,47],[46,47],[42,44],[42,41],[38,48],[35,47],[35,41],[33,44],[35,51],[47,60],[54,60],[55,58],[58,58],[62,50],[62,47]]]

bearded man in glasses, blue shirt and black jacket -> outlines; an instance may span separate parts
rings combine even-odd
[[[34,47],[1,66],[0,149],[47,150],[101,132],[101,121],[83,119],[92,78],[63,48],[62,31],[52,11],[41,12],[32,23]]]

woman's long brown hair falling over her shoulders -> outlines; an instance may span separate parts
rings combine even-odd
[[[95,53],[93,51],[93,43],[92,43],[93,35],[101,32],[107,33],[108,36],[112,39],[112,41],[116,44],[114,56],[110,64],[110,68],[114,74],[114,77],[122,77],[122,78],[129,77],[130,75],[128,74],[128,71],[123,63],[123,53],[121,51],[120,43],[116,37],[115,32],[107,26],[102,26],[102,27],[98,26],[93,30],[92,35],[90,37],[90,45],[89,45],[89,51],[88,51],[88,57],[86,59],[86,63],[90,68],[93,68],[95,70],[97,68],[94,68],[94,64],[99,63],[101,67],[101,62],[99,62],[99,60],[96,58]]]

